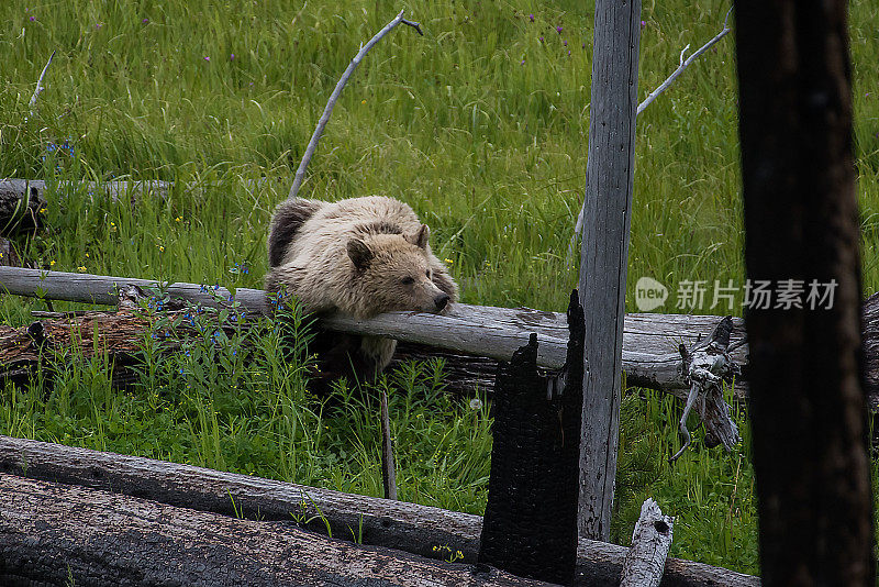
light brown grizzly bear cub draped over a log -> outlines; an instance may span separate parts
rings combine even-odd
[[[266,291],[283,289],[318,315],[439,313],[457,300],[458,288],[429,237],[427,225],[392,198],[287,200],[271,220]],[[390,363],[397,341],[322,332],[314,347],[319,384],[342,376],[369,381]]]

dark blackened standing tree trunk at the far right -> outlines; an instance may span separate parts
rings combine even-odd
[[[746,311],[764,579],[875,585],[846,2],[736,20],[747,276],[777,295]]]

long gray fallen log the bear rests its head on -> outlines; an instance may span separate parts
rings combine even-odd
[[[115,289],[129,284],[146,289],[156,287],[156,281],[148,279],[0,267],[2,290],[53,300],[115,306]],[[197,284],[171,284],[167,287],[174,298],[216,306],[214,296],[202,289]],[[223,299],[230,296],[222,287],[215,294]],[[265,308],[262,290],[240,288],[234,299],[247,311],[262,312]],[[678,345],[690,346],[700,336],[708,336],[719,320],[711,315],[627,314],[623,333],[623,370],[627,384],[660,389],[686,400],[690,386],[679,372],[681,357]],[[568,342],[565,314],[528,308],[457,303],[447,315],[389,312],[368,320],[333,315],[324,318],[321,324],[330,330],[388,336],[496,361],[509,361],[514,351],[527,344],[531,333],[536,333],[537,365],[550,370],[564,366]],[[731,341],[736,343],[744,336],[744,328],[741,319],[734,319],[733,324]],[[746,353],[746,347],[741,346],[733,357],[744,362]]]

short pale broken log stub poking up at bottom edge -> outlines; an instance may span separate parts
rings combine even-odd
[[[652,498],[642,503],[620,587],[658,587],[671,547],[674,523],[674,518],[664,516]]]

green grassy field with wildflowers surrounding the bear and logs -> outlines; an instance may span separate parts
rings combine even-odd
[[[563,310],[577,281],[568,246],[582,201],[590,97],[592,11],[572,1],[2,2],[0,177],[178,186],[166,200],[135,207],[51,190],[49,229],[19,236],[20,255],[60,270],[259,287],[270,212],[330,92],[359,44],[400,8],[425,36],[399,29],[367,56],[301,193],[400,198],[431,225],[464,301]],[[665,79],[685,45],[716,34],[727,9],[645,3],[639,95]],[[850,20],[865,288],[872,292],[879,8],[855,1]],[[30,115],[53,51],[47,89]],[[688,310],[676,307],[682,281],[744,284],[736,115],[731,35],[639,118],[630,310],[641,276],[669,287],[661,311],[670,312]],[[263,187],[252,187],[260,178]],[[200,189],[183,188],[193,184]],[[702,313],[741,313],[710,306],[709,292]],[[0,299],[8,323],[44,308]],[[380,495],[376,407],[351,398],[321,410],[307,397],[301,362],[272,358],[283,341],[271,325],[260,328],[254,351],[232,336],[169,357],[145,340],[144,376],[127,390],[112,388],[107,362],[59,357],[73,366],[57,367],[51,388],[37,377],[0,392],[0,433]],[[481,513],[490,419],[486,408],[444,394],[442,381],[441,366],[426,364],[380,384],[391,391],[400,495]],[[757,572],[744,416],[741,448],[708,450],[697,436],[670,467],[680,407],[632,389],[622,410],[613,540],[630,540],[649,495],[676,516],[672,555]]]

